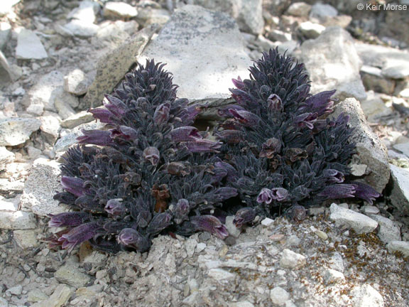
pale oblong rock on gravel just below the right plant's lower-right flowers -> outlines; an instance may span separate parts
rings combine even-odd
[[[378,227],[378,222],[372,220],[371,217],[367,217],[354,210],[339,207],[334,203],[329,210],[331,210],[329,218],[335,221],[335,225],[352,228],[359,234],[372,232]]]

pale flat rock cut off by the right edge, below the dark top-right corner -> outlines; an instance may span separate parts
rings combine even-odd
[[[402,79],[409,76],[408,51],[365,43],[357,43],[356,50],[365,65],[381,68],[383,77]]]

